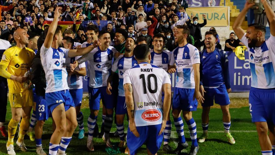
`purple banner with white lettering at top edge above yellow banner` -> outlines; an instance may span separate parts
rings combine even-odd
[[[186,0],[188,7],[215,7],[220,6],[221,0]]]

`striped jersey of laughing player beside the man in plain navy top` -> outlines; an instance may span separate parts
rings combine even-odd
[[[192,65],[200,63],[198,49],[191,44],[177,47],[172,52],[169,65],[174,65],[175,63],[177,68],[176,87],[195,88],[194,69]]]

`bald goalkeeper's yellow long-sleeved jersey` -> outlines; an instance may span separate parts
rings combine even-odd
[[[34,51],[27,47],[21,49],[13,46],[5,50],[0,62],[0,75],[8,79],[9,93],[21,93],[25,90],[24,83],[11,80],[10,77],[24,76],[30,70],[34,56]]]

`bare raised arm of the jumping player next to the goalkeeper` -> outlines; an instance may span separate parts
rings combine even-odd
[[[54,18],[53,22],[50,24],[50,27],[48,28],[48,33],[44,41],[44,46],[48,49],[51,47],[53,43],[53,35],[55,33],[55,30],[57,28],[58,18],[60,16],[59,10],[61,10],[62,7],[57,7],[54,11]]]

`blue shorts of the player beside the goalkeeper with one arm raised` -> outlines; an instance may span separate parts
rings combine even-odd
[[[48,109],[51,113],[58,105],[64,103],[65,111],[70,109],[71,106],[74,106],[73,98],[69,90],[60,90],[51,93],[45,93],[45,99],[48,106]]]

